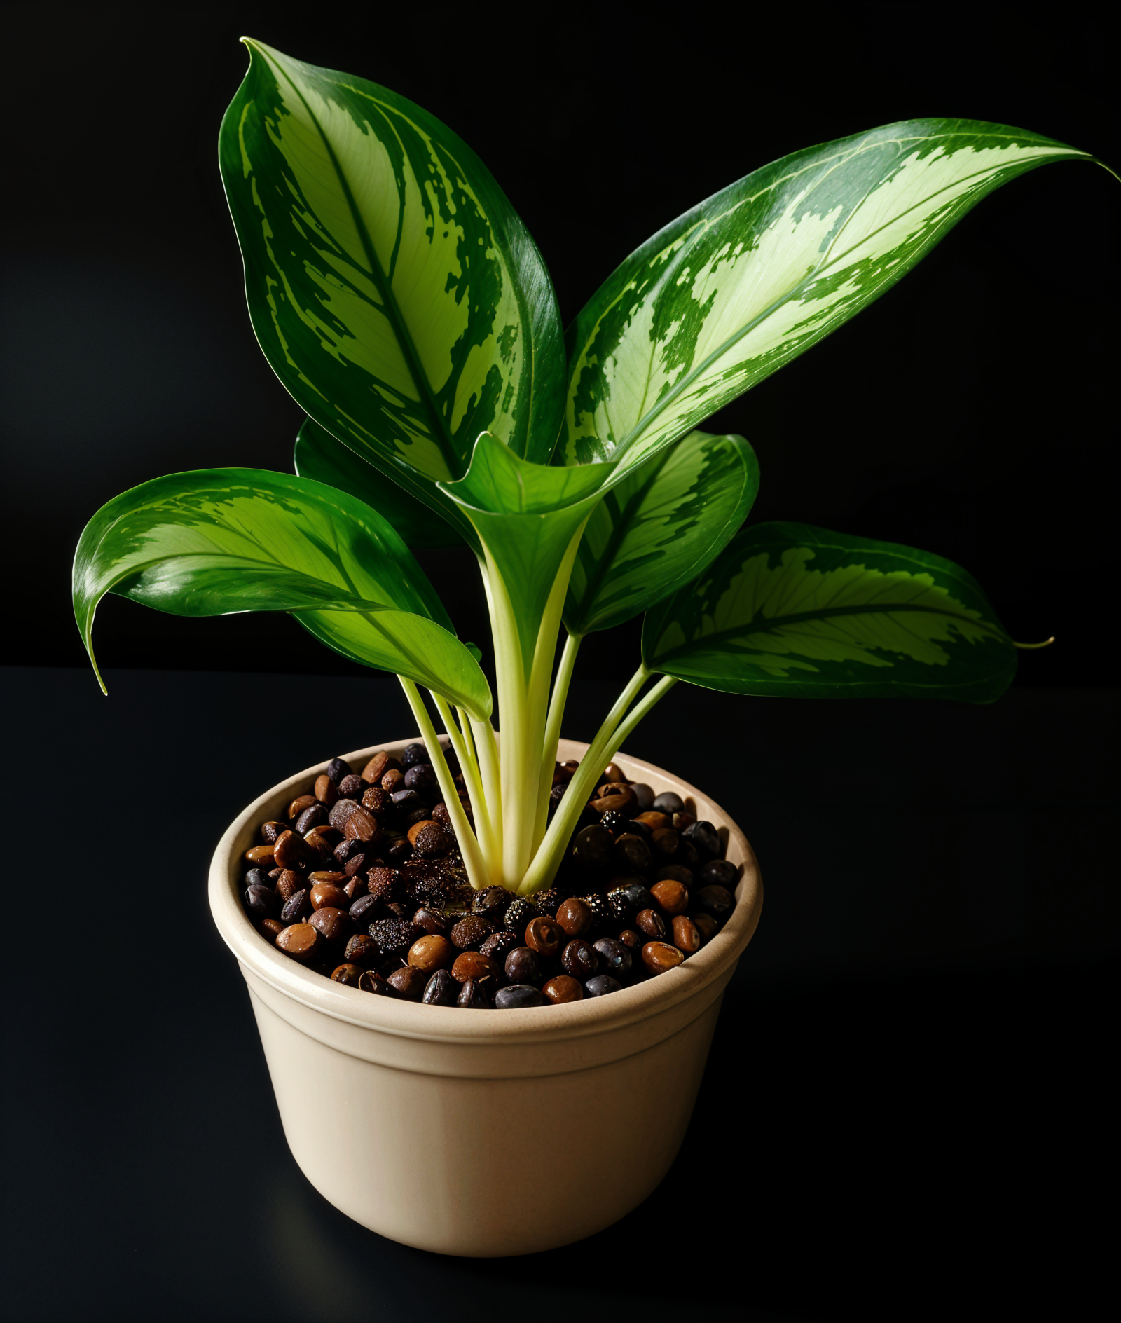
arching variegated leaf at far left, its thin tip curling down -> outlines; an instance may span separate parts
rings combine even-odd
[[[106,593],[175,615],[292,611],[352,660],[490,712],[486,679],[413,553],[376,511],[308,478],[204,468],[123,492],[86,525],[74,558],[91,662]]]

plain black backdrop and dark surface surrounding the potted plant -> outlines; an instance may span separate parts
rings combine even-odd
[[[69,605],[81,528],[119,491],[290,467],[302,414],[255,345],[216,161],[240,34],[453,127],[537,239],[566,321],[699,198],[877,123],[993,119],[1116,168],[1113,44],[1088,13],[5,9],[12,1316],[1092,1312],[1117,949],[1116,692],[1096,688],[1113,680],[1105,171],[999,191],[712,422],[758,451],[753,519],[949,556],[1014,636],[1059,644],[993,706],[729,708],[680,687],[639,728],[630,753],[741,822],[766,904],[679,1162],[580,1246],[443,1259],[330,1208],[283,1143],[206,912],[242,804],[410,732],[396,683],[283,617],[109,598],[103,700]],[[463,565],[425,564],[483,642]],[[635,644],[585,644],[568,734],[589,738]]]

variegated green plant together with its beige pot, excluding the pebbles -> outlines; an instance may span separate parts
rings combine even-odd
[[[991,701],[1023,646],[936,554],[741,527],[754,454],[699,425],[892,286],[994,188],[1092,157],[965,120],[795,152],[655,234],[562,335],[544,262],[470,148],[382,87],[247,45],[220,161],[254,329],[308,414],[296,474],[176,474],[110,501],[78,545],[78,626],[93,659],[107,591],[185,615],[289,611],[344,656],[397,673],[478,890],[548,888],[614,759],[720,831],[740,871],[736,910],[695,955],[610,998],[480,1016],[332,983],[244,916],[257,827],[326,767],[273,787],[214,856],[212,908],[312,1181],[425,1248],[565,1244],[622,1216],[672,1160],[761,904],[735,823],[703,790],[619,753],[637,722],[678,681]],[[500,740],[482,654],[455,636],[409,549],[431,545],[478,561]],[[634,676],[589,746],[564,742],[581,639],[639,613]],[[577,758],[556,796],[559,761]],[[312,1154],[304,1136],[328,1107],[340,1142]],[[564,1144],[535,1168],[541,1146],[524,1125],[487,1138],[482,1118],[499,1113],[568,1127],[610,1193],[589,1200]],[[422,1138],[438,1151],[410,1193],[400,1164]]]

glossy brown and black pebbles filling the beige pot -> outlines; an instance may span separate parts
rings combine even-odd
[[[735,908],[739,869],[716,828],[615,763],[548,890],[476,892],[427,759],[421,744],[400,759],[379,751],[357,773],[334,758],[285,822],[261,824],[261,844],[245,853],[244,904],[277,950],[379,996],[514,1009],[663,974]],[[557,763],[551,816],[577,766]],[[461,802],[470,818],[462,789]]]

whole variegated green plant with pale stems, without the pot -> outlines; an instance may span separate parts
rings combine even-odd
[[[1093,157],[973,120],[811,147],[656,233],[562,333],[533,239],[465,143],[384,87],[246,45],[220,164],[253,327],[307,413],[296,475],[173,474],[98,511],[74,561],[91,660],[107,591],[181,615],[291,613],[398,675],[472,885],[521,894],[552,880],[604,766],[680,680],[1003,693],[1019,644],[970,574],[802,524],[742,527],[754,452],[697,429],[994,188]],[[486,587],[500,749],[480,654],[409,550],[450,545],[470,549]],[[580,642],[643,611],[639,665],[549,822]]]

